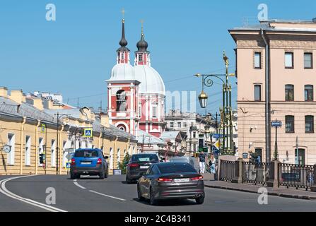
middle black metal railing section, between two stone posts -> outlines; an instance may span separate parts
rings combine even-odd
[[[242,182],[266,185],[269,179],[269,163],[242,162]]]

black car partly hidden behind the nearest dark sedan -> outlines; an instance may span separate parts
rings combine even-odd
[[[131,155],[131,160],[126,168],[126,182],[130,184],[141,177],[141,173],[145,173],[147,169],[156,163],[161,162],[156,153],[141,153]]]

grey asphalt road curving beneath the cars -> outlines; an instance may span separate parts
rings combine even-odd
[[[6,181],[6,179],[11,179]],[[77,181],[68,176],[0,177],[0,211],[79,212],[222,212],[222,211],[315,211],[316,201],[269,196],[268,205],[259,205],[259,194],[206,188],[203,205],[195,201],[161,201],[159,206],[137,199],[136,184],[125,184],[124,176],[105,180],[86,177]],[[56,191],[56,204],[47,205],[47,188]],[[4,194],[5,193],[5,194]],[[50,207],[54,208],[51,209]]]

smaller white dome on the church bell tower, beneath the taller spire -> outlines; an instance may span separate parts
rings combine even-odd
[[[134,69],[131,64],[117,64],[113,67],[110,81],[135,80]]]

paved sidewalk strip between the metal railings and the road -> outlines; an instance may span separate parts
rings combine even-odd
[[[230,182],[219,182],[213,180],[213,175],[204,174],[204,186],[212,189],[224,189],[230,191],[242,191],[248,193],[258,194],[258,189],[262,188],[261,185],[252,184],[233,184]],[[272,189],[265,186],[268,189],[270,196],[279,196],[283,198],[298,198],[305,200],[316,201],[316,193],[311,191],[296,190],[295,188],[286,189],[286,187],[280,187],[279,189]]]

